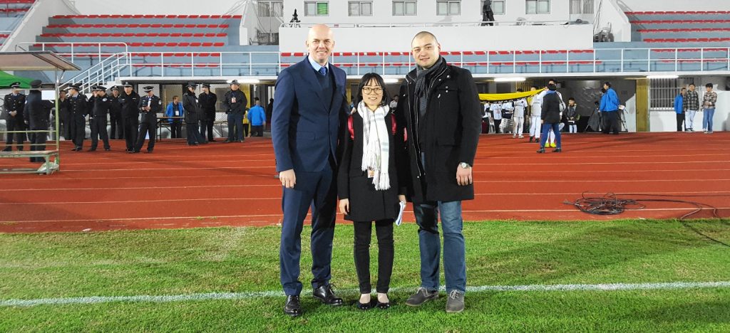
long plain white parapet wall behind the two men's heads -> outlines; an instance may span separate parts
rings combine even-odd
[[[428,30],[444,51],[575,50],[593,48],[593,28],[583,26],[333,27],[339,52],[407,52],[412,36]],[[393,31],[397,30],[397,33]],[[308,28],[281,28],[281,52],[306,52]],[[377,36],[373,38],[373,36]],[[464,38],[476,36],[477,38]]]

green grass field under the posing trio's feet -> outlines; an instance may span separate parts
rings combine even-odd
[[[730,225],[690,222],[730,243]],[[305,227],[304,235],[309,230]],[[0,235],[0,303],[9,299],[279,291],[277,227]],[[338,225],[333,283],[354,302],[353,228]],[[677,221],[469,222],[469,286],[730,281],[730,248]],[[403,305],[418,286],[414,224],[396,227],[390,310],[319,305],[281,312],[283,294],[174,302],[0,306],[0,332],[730,332],[730,288],[474,291]],[[375,242],[375,240],[374,240]],[[302,281],[311,273],[302,243]],[[372,256],[376,255],[374,246]],[[373,260],[375,265],[377,260]],[[374,275],[375,267],[372,274]],[[305,289],[307,288],[305,282]]]

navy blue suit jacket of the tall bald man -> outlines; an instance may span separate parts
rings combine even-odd
[[[329,155],[337,162],[340,124],[347,119],[345,71],[331,64],[335,90],[332,103],[321,96],[318,75],[307,58],[285,68],[276,81],[272,141],[277,171],[323,171]]]

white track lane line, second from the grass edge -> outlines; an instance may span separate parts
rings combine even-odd
[[[587,195],[601,195],[600,193],[586,192]],[[475,193],[476,196],[504,196],[504,195],[519,195],[519,196],[545,196],[545,195],[583,195],[582,192],[576,193]],[[621,193],[616,194],[621,196]],[[703,192],[635,192],[631,195],[692,195],[698,197],[707,195],[708,197],[717,197],[718,195],[727,195],[730,197],[728,191],[703,191]],[[111,200],[111,201],[47,201],[47,202],[32,202],[32,203],[0,203],[0,205],[73,205],[73,204],[101,204],[101,203],[178,203],[183,201],[245,201],[245,200],[281,200],[281,197],[204,197],[204,198],[177,198],[177,199],[157,199],[157,200]]]

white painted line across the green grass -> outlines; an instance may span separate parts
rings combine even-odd
[[[730,281],[717,282],[666,282],[666,283],[599,283],[599,284],[530,284],[523,286],[467,286],[467,292],[551,292],[551,291],[634,291],[634,290],[681,290],[681,289],[727,289]],[[407,291],[412,287],[392,288],[391,291]],[[444,288],[441,289],[444,291]],[[311,290],[303,290],[310,294]],[[340,290],[342,294],[356,294],[356,289]],[[91,296],[58,297],[39,299],[3,299],[0,307],[34,307],[38,305],[90,305],[112,302],[191,302],[204,300],[258,299],[283,297],[283,291],[212,292],[177,295],[135,295],[135,296]]]

